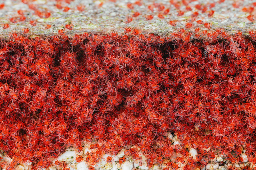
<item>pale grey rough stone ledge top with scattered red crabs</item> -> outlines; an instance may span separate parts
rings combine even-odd
[[[97,32],[97,33],[109,33],[116,31],[123,33],[125,27],[138,28],[142,32],[156,33],[162,35],[168,35],[169,33],[184,28],[184,26],[190,22],[192,27],[188,30],[193,31],[194,28],[200,27],[203,30],[207,30],[204,24],[198,24],[196,20],[202,20],[204,23],[209,23],[211,29],[223,28],[228,32],[233,30],[241,30],[244,34],[247,34],[249,30],[255,28],[255,22],[251,22],[247,19],[250,13],[243,10],[244,7],[252,6],[252,1],[224,1],[223,3],[215,2],[215,7],[210,7],[213,1],[201,0],[189,3],[191,11],[186,9],[187,6],[181,1],[176,4],[180,5],[180,9],[177,6],[170,4],[169,0],[158,1],[141,1],[139,5],[132,5],[133,9],[127,7],[127,3],[133,1],[118,0],[113,1],[92,1],[92,0],[75,0],[71,1],[70,4],[63,2],[61,4],[62,9],[56,7],[56,1],[36,0],[36,1],[23,1],[28,2],[27,4],[22,3],[18,0],[13,1],[2,1],[4,8],[0,10],[0,25],[10,24],[7,29],[0,28],[0,34],[2,38],[7,38],[9,33],[22,32],[23,28],[29,27],[30,35],[52,35],[57,34],[59,29],[65,28],[65,25],[72,23],[74,25],[73,30],[68,31],[68,34],[75,34],[81,32]],[[163,15],[164,18],[159,18],[157,15],[163,13],[154,6],[163,5],[165,9],[169,8],[170,12]],[[173,2],[173,1],[171,1]],[[1,3],[1,1],[0,1]],[[157,4],[158,3],[158,4]],[[77,5],[84,5],[83,11],[77,10]],[[202,11],[195,8],[196,5],[201,4],[202,7],[207,7],[207,10]],[[149,10],[148,5],[153,6],[152,11]],[[237,5],[235,8],[234,6]],[[64,8],[68,6],[70,10],[64,12]],[[38,12],[48,11],[51,15],[48,18],[40,18]],[[10,18],[20,17],[17,13],[18,10],[24,11],[25,21],[12,23]],[[209,12],[215,11],[212,16],[209,16]],[[184,14],[178,16],[179,11],[184,11]],[[198,11],[198,16],[192,17],[193,13]],[[245,12],[244,12],[245,11]],[[127,23],[127,17],[131,17],[135,12],[140,12],[140,15],[133,17],[133,20]],[[251,12],[253,16],[255,10]],[[153,19],[147,20],[145,17],[152,15]],[[30,20],[36,20],[36,26],[29,24]],[[176,26],[169,24],[170,20],[177,22]],[[45,29],[45,25],[50,24],[50,29]]]

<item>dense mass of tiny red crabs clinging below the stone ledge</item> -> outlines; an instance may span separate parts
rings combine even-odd
[[[148,166],[188,158],[205,166],[216,154],[231,162],[255,159],[255,34],[190,39],[131,33],[83,33],[0,42],[0,147],[13,161],[49,166],[68,146],[95,140],[94,165],[103,153],[140,147]],[[179,144],[164,137],[177,135]],[[242,148],[242,149],[241,149]],[[136,150],[127,150],[140,160]],[[4,163],[2,163],[1,166]]]

